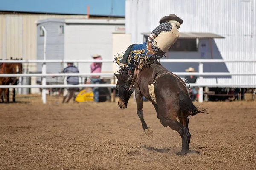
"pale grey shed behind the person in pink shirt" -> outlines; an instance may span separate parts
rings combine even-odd
[[[43,59],[44,34],[47,31],[46,59],[92,59],[99,54],[102,59],[113,59],[113,33],[122,33],[124,19],[56,19],[37,22],[37,59]],[[90,73],[91,63],[75,63],[80,73]],[[58,73],[64,65],[47,63],[47,72]],[[102,72],[116,70],[113,63],[103,63]],[[38,63],[37,71],[41,71]],[[40,81],[40,78],[38,79]],[[47,78],[47,82],[56,82]]]

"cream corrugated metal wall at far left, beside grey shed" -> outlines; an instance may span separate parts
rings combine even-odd
[[[1,14],[0,15],[0,59],[12,57],[36,59],[37,28],[35,22],[47,18],[84,18],[86,15],[51,15],[51,14]],[[7,28],[7,29],[6,29]],[[36,64],[24,64],[28,71],[36,71]],[[35,85],[36,77],[31,78]],[[31,93],[37,93],[32,88]]]

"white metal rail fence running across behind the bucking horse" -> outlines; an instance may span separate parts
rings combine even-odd
[[[67,62],[110,62],[113,60],[0,60],[0,63],[42,63],[42,74],[0,74],[0,77],[42,77],[41,85],[0,85],[0,88],[42,88],[42,102],[46,103],[46,88],[67,88],[67,87],[115,87],[115,84],[79,84],[79,85],[46,85],[46,77],[51,76],[113,76],[109,73],[46,73],[46,63],[67,63]],[[196,75],[198,76],[198,83],[190,84],[191,87],[199,87],[199,102],[203,102],[203,87],[246,87],[246,88],[256,88],[256,84],[204,84],[203,76],[232,76],[232,75],[256,75],[256,73],[212,73],[203,72],[203,63],[216,63],[216,62],[253,62],[251,60],[221,60],[221,59],[162,59],[160,62],[197,62],[199,63],[198,72],[187,73],[187,72],[175,72],[179,76],[185,75]]]

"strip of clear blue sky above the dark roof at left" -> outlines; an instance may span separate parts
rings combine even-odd
[[[0,0],[0,10],[125,16],[125,0]]]

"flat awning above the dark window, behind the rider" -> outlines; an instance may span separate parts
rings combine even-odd
[[[149,36],[151,32],[142,33],[145,36]],[[223,36],[209,33],[209,32],[180,32],[179,38],[225,38]]]

